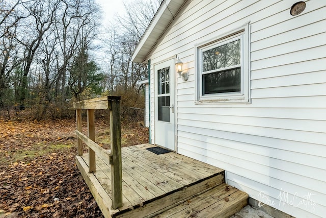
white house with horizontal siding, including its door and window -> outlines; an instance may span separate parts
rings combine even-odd
[[[150,63],[152,144],[326,217],[326,1],[165,0],[132,58]]]

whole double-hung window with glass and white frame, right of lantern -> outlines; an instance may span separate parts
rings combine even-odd
[[[197,103],[250,103],[248,25],[196,46]]]

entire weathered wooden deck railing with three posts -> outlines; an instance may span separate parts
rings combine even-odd
[[[121,96],[105,96],[101,98],[74,102],[76,109],[78,137],[78,155],[83,155],[83,142],[89,147],[89,173],[96,172],[95,155],[106,164],[111,165],[112,207],[122,206],[122,159],[121,159]],[[87,110],[88,136],[82,133],[82,109]],[[110,110],[111,153],[95,143],[95,115],[94,110]]]

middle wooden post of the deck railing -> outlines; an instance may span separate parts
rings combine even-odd
[[[88,129],[88,137],[95,142],[95,115],[94,109],[87,109],[87,129]],[[89,172],[96,172],[96,162],[95,162],[95,152],[88,148],[89,153]]]

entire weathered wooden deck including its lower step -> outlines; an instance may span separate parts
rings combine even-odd
[[[111,165],[96,156],[88,173],[88,154],[76,164],[105,217],[229,217],[247,204],[248,195],[226,187],[224,170],[175,154],[156,155],[141,144],[122,148],[123,206],[112,208]],[[227,210],[223,212],[221,208]]]

